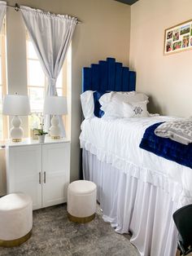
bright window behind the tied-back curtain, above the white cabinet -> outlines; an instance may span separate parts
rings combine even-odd
[[[68,56],[64,61],[63,68],[59,73],[59,77],[56,82],[57,95],[67,96],[67,83],[68,83],[68,68],[71,65],[71,49],[68,51]],[[43,108],[43,100],[45,96],[47,78],[41,68],[40,61],[33,47],[33,42],[30,41],[27,35],[27,66],[28,66],[28,96],[30,100],[31,112],[33,113],[29,117],[29,128],[37,128],[40,124],[40,116]],[[67,118],[63,117],[63,121],[67,122]]]

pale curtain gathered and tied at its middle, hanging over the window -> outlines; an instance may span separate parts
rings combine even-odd
[[[44,73],[48,79],[46,95],[56,93],[56,81],[76,28],[77,19],[69,15],[55,15],[50,12],[20,7],[24,24],[37,52]],[[50,116],[46,117],[45,129],[50,127]],[[65,136],[63,121],[60,117],[62,136]]]

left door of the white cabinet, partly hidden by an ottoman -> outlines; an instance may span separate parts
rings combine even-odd
[[[33,210],[41,208],[41,145],[9,147],[7,154],[7,192],[24,192]]]

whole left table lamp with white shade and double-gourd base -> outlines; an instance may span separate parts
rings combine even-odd
[[[19,116],[28,116],[30,113],[29,99],[27,95],[6,95],[2,104],[2,114],[14,116],[11,124],[10,137],[13,142],[20,142],[24,130],[20,127],[21,120]]]

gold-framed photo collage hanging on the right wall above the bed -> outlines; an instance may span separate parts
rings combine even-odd
[[[164,55],[192,49],[192,20],[164,31]]]

